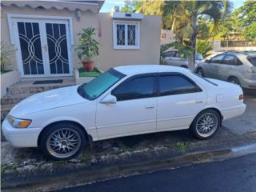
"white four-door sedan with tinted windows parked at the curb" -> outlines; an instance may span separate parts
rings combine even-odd
[[[108,138],[190,129],[212,137],[222,121],[246,110],[242,89],[174,66],[118,66],[81,86],[26,98],[2,131],[13,146],[40,146],[48,158],[70,159]]]

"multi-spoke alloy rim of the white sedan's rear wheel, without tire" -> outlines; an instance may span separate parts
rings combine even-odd
[[[202,114],[196,123],[196,131],[203,138],[210,137],[217,128],[218,118],[212,113]]]

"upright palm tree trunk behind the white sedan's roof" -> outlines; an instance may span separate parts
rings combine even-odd
[[[195,54],[196,54],[196,43],[197,43],[197,35],[198,35],[198,26],[197,26],[197,15],[194,14],[192,16],[192,33],[190,34],[190,46],[192,48],[192,56],[189,59],[189,68],[194,71],[195,66]]]

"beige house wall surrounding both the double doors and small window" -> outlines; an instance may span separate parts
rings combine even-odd
[[[91,5],[90,5],[91,6]],[[40,15],[53,17],[72,18],[72,29],[74,35],[74,46],[71,55],[74,69],[82,67],[74,48],[78,45],[78,33],[83,27],[94,27],[96,37],[100,42],[100,53],[95,59],[95,66],[100,70],[107,70],[113,66],[136,65],[136,64],[158,64],[160,58],[160,34],[161,18],[158,16],[144,16],[140,22],[140,48],[139,50],[114,50],[113,45],[113,19],[111,14],[96,13],[93,11],[82,11],[82,17],[78,22],[75,10],[36,10],[30,6],[2,6],[1,13],[1,41],[12,51],[10,62],[6,70],[18,70],[15,47],[10,42],[10,32],[7,14]],[[42,45],[43,46],[43,45]]]

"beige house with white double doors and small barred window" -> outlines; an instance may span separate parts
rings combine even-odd
[[[25,79],[74,77],[80,68],[74,48],[83,27],[100,42],[100,70],[130,64],[158,64],[161,18],[99,13],[102,1],[2,1],[1,39],[13,50],[6,70]]]

